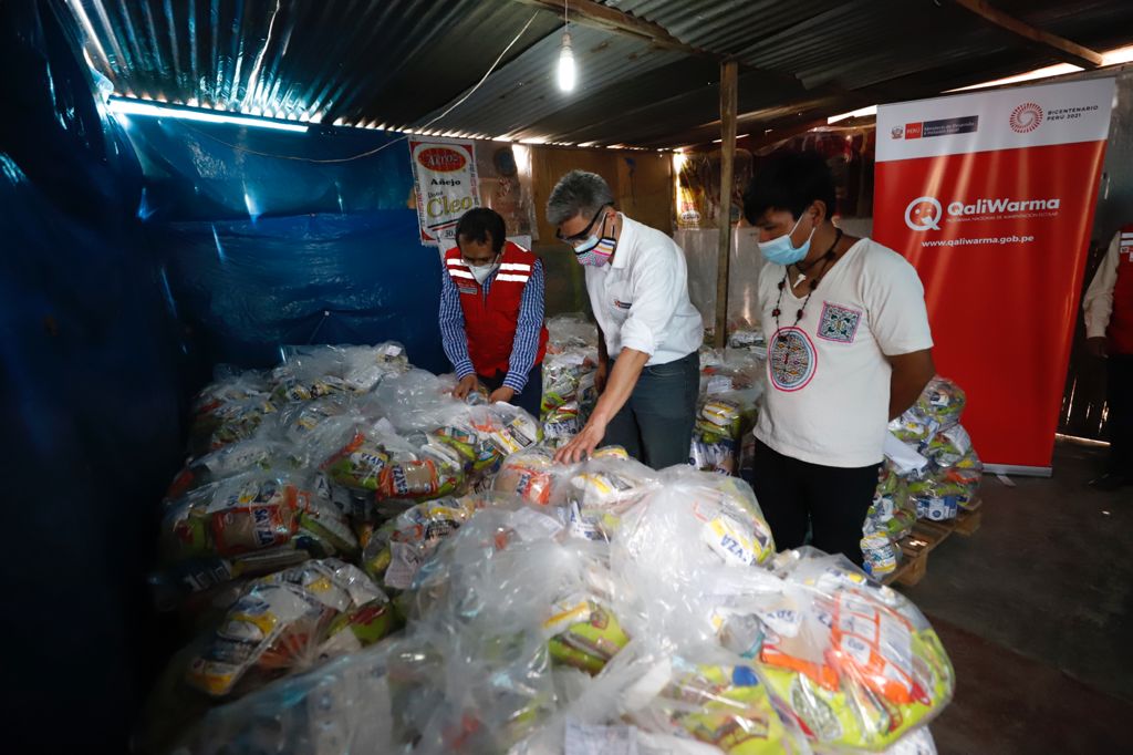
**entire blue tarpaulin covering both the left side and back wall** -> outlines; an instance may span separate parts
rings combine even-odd
[[[61,0],[0,3],[2,685],[22,753],[127,749],[170,650],[145,589],[159,501],[214,365],[392,339],[449,367],[402,142],[116,119],[79,50]]]

